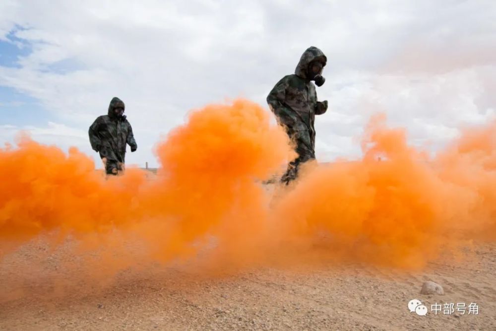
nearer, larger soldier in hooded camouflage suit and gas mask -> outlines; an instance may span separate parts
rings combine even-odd
[[[295,73],[284,76],[267,96],[267,103],[291,140],[296,144],[298,157],[290,162],[281,182],[288,184],[298,175],[301,163],[315,159],[315,115],[324,114],[327,101],[317,101],[315,81],[321,86],[325,79],[322,69],[327,62],[325,55],[316,47],[303,53]]]

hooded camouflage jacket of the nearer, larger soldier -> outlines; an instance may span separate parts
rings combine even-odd
[[[327,61],[325,55],[318,48],[312,46],[307,49],[303,53],[295,73],[279,80],[267,96],[267,103],[275,114],[278,123],[286,128],[291,137],[296,135],[296,138],[300,139],[302,135],[307,136],[308,139],[304,138],[303,143],[308,144],[312,150],[315,147],[315,129],[313,126],[315,115],[321,115],[327,110],[327,101],[317,101],[315,85],[308,79],[310,62],[319,58],[324,63]]]

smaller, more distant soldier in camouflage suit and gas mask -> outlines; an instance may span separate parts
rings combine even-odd
[[[117,175],[124,171],[126,144],[131,152],[137,148],[131,125],[124,115],[124,102],[113,98],[108,115],[97,117],[89,129],[91,148],[100,153],[108,175]]]

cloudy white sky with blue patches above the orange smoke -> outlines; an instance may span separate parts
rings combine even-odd
[[[328,59],[321,161],[360,155],[374,112],[432,151],[496,116],[495,0],[0,0],[0,144],[29,130],[96,159],[88,127],[118,96],[138,143],[126,162],[157,165],[189,110],[268,109],[309,46]]]

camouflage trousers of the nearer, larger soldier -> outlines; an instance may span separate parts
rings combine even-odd
[[[288,169],[281,177],[281,182],[286,185],[298,177],[298,171],[301,164],[315,159],[315,151],[312,146],[313,143],[310,131],[295,133],[296,134],[290,134],[290,138],[296,143],[295,151],[298,153],[298,157],[288,164]]]

